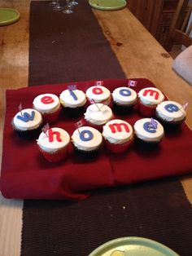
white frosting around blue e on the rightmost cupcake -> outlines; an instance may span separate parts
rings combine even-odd
[[[166,108],[164,108],[166,105],[168,104],[174,104],[176,105],[179,110],[178,111],[174,111],[174,112],[168,112],[168,110]],[[156,112],[158,113],[159,117],[161,117],[162,119],[166,120],[166,121],[181,121],[185,118],[185,109],[182,108],[181,104],[178,104],[175,101],[164,101],[161,104],[159,104],[156,108]]]

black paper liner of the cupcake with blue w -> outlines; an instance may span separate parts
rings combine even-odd
[[[38,139],[38,136],[41,134],[41,128],[42,128],[42,124],[41,126],[37,127],[36,129],[33,130],[19,130],[17,127],[15,127],[13,121],[11,123],[13,130],[15,131],[15,133],[17,135],[20,136],[20,138],[22,139]]]

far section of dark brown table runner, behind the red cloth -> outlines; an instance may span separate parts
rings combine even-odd
[[[28,85],[124,78],[87,1],[72,15],[32,2]]]

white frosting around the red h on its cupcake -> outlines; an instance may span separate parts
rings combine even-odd
[[[54,132],[59,132],[59,138],[61,139],[61,142],[59,142],[56,139],[56,135],[53,135],[53,141],[49,141],[48,131],[46,131],[46,134],[44,132],[41,132],[41,135],[39,135],[39,138],[37,139],[37,144],[39,147],[46,151],[46,152],[57,152],[59,149],[62,149],[68,145],[70,142],[70,136],[68,135],[68,132],[66,130],[63,130],[61,128],[50,128]]]

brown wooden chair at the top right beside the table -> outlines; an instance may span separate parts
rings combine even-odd
[[[172,19],[172,24],[170,26],[168,39],[165,42],[164,48],[167,51],[172,50],[173,43],[181,44],[186,47],[192,44],[192,38],[190,38],[190,32],[192,29],[192,22],[190,23],[189,29],[186,31],[186,27],[190,18],[190,13],[192,10],[192,4],[188,6],[186,0],[179,0],[177,4],[177,10]]]

